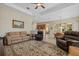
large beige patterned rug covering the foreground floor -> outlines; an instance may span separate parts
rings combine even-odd
[[[67,53],[56,45],[30,40],[5,46],[6,56],[66,56]]]

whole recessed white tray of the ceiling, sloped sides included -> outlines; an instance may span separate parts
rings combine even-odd
[[[59,9],[62,9],[64,7],[67,7],[71,4],[68,3],[44,3],[45,9],[39,7],[38,9],[35,9],[35,4],[33,3],[7,3],[6,5],[11,6],[13,8],[16,8],[18,10],[21,10],[27,14],[37,16],[37,15],[45,15],[46,13],[53,12]],[[27,9],[29,7],[30,9]]]

